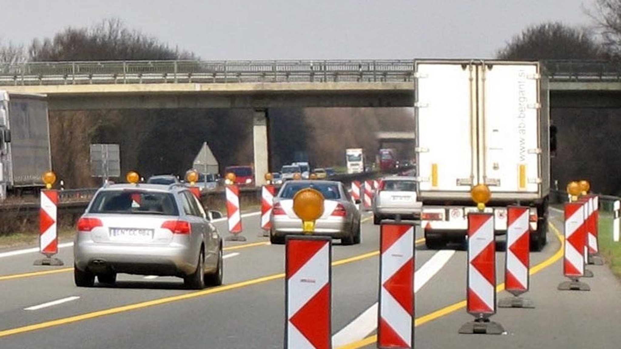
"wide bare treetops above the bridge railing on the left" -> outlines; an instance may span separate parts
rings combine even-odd
[[[33,40],[32,61],[65,60],[175,60],[193,59],[137,30],[125,27],[120,19],[105,19],[91,28],[68,27],[53,39]]]

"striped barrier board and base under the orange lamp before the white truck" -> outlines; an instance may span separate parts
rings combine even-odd
[[[494,214],[468,214],[468,292],[466,310],[474,321],[460,333],[502,334],[502,325],[489,320],[496,314],[496,240]]]

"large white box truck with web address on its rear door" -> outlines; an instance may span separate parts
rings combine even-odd
[[[538,62],[415,61],[416,161],[428,248],[464,242],[470,191],[486,184],[494,230],[507,206],[530,207],[532,250],[548,229],[550,115]]]

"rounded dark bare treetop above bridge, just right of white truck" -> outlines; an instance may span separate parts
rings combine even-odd
[[[501,59],[596,59],[604,50],[587,29],[546,22],[528,27],[497,52]]]

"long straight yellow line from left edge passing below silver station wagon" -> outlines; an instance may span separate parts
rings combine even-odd
[[[419,239],[419,240],[416,240],[416,243],[419,243],[419,242],[422,242],[422,241],[424,241],[424,239]],[[369,252],[369,253],[365,253],[364,255],[354,256],[354,257],[351,257],[351,258],[345,258],[344,260],[338,260],[338,261],[332,262],[332,265],[333,266],[337,266],[337,265],[343,265],[343,264],[351,263],[353,261],[363,260],[365,258],[369,258],[371,256],[378,255],[378,253],[379,252]],[[73,268],[69,268],[69,269],[73,270]],[[152,301],[145,301],[145,302],[140,302],[140,303],[135,303],[135,304],[129,304],[127,306],[121,306],[121,307],[114,307],[114,308],[111,308],[111,309],[98,310],[96,312],[89,312],[89,313],[86,313],[86,314],[65,317],[63,319],[57,319],[57,320],[51,320],[51,321],[46,321],[46,322],[40,322],[39,324],[32,324],[32,325],[26,325],[26,326],[22,326],[22,327],[16,327],[14,329],[7,329],[7,330],[0,331],[0,338],[7,337],[9,335],[16,335],[18,333],[24,333],[24,332],[40,330],[40,329],[47,329],[49,327],[54,327],[54,326],[58,326],[58,325],[66,325],[66,324],[71,324],[73,322],[94,319],[96,317],[101,317],[101,316],[105,316],[105,315],[119,314],[120,312],[126,312],[126,311],[130,311],[130,310],[142,309],[142,308],[145,308],[145,307],[152,307],[152,306],[158,306],[158,305],[161,305],[161,304],[167,304],[167,303],[171,303],[171,302],[182,301],[184,299],[190,299],[190,298],[196,298],[196,297],[200,297],[200,296],[206,296],[207,294],[214,294],[214,293],[219,293],[219,292],[224,292],[224,291],[230,291],[232,289],[243,288],[243,287],[246,287],[246,286],[251,286],[253,284],[265,283],[267,281],[272,281],[272,280],[282,279],[282,278],[284,278],[284,273],[273,274],[273,275],[270,275],[270,276],[263,276],[261,278],[256,278],[256,279],[250,279],[250,280],[247,280],[247,281],[242,281],[240,283],[224,285],[224,286],[218,286],[216,288],[205,289],[203,291],[196,291],[196,292],[190,292],[190,293],[186,293],[186,294],[181,294],[179,296],[171,296],[171,297],[165,297],[165,298],[160,298],[160,299],[153,299]]]

